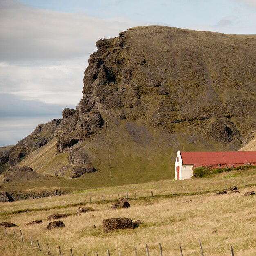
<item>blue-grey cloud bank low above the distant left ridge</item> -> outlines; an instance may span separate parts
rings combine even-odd
[[[0,94],[0,146],[14,145],[29,135],[38,124],[62,118],[69,105],[45,104],[21,100],[12,94]]]

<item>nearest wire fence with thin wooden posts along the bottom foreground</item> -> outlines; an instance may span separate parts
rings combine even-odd
[[[48,243],[41,243],[41,242],[39,243],[38,239],[35,239],[35,238],[33,239],[32,236],[29,234],[23,234],[21,230],[17,231],[17,229],[9,229],[6,227],[1,227],[1,228],[7,238],[13,238],[16,241],[20,241],[22,244],[25,244],[25,243],[31,244],[31,246],[35,248],[35,254],[36,254],[36,249],[37,249],[38,251],[40,251],[42,253],[42,255],[46,254],[46,255],[50,255],[50,256],[55,256],[55,255],[58,255],[58,256],[64,256],[64,255],[86,256],[85,253],[78,252],[77,250],[73,251],[72,248],[68,251],[67,250],[64,251],[63,249],[61,249],[61,246],[56,247],[56,246],[49,245]],[[20,236],[20,238],[18,238],[19,236]],[[27,238],[27,239],[25,239],[25,238]],[[160,256],[164,256],[164,252],[167,252],[167,251],[172,251],[175,253],[175,255],[179,254],[180,256],[185,256],[185,254],[187,252],[197,252],[198,253],[197,255],[201,255],[201,256],[207,256],[207,255],[210,255],[210,256],[214,256],[214,255],[216,255],[216,256],[229,256],[229,255],[234,256],[232,246],[230,246],[230,254],[218,254],[215,252],[210,252],[209,250],[207,250],[207,252],[204,252],[201,240],[198,240],[198,243],[199,243],[198,248],[195,248],[195,249],[187,249],[187,248],[184,249],[181,247],[181,245],[179,245],[176,249],[175,248],[164,249],[162,247],[161,243],[159,243],[159,248],[157,249],[155,245],[148,246],[146,244],[146,246],[142,247],[142,248],[137,248],[136,246],[134,246],[133,249],[131,249],[129,252],[127,252],[125,254],[122,254],[121,250],[118,249],[118,254],[119,254],[119,256],[126,256],[126,255],[138,256],[138,252],[144,250],[145,255],[150,256],[150,250],[151,250],[151,252],[154,250],[154,251],[158,251],[158,255],[160,254]],[[117,250],[115,250],[115,251],[117,251]],[[89,252],[88,254],[90,256],[91,255],[100,256],[97,251]],[[110,256],[110,250],[106,250],[106,255]]]

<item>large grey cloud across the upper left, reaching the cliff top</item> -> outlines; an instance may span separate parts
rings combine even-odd
[[[60,60],[96,50],[101,37],[118,36],[137,22],[85,13],[35,9],[0,0],[0,61]]]

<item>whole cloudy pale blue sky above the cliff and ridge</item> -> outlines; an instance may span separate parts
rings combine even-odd
[[[144,25],[256,34],[256,0],[0,0],[0,146],[75,108],[95,42]]]

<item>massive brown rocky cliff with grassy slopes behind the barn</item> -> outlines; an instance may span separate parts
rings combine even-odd
[[[238,150],[256,130],[255,35],[149,26],[96,46],[83,99],[52,133],[68,153],[61,175],[164,179],[177,150]]]

